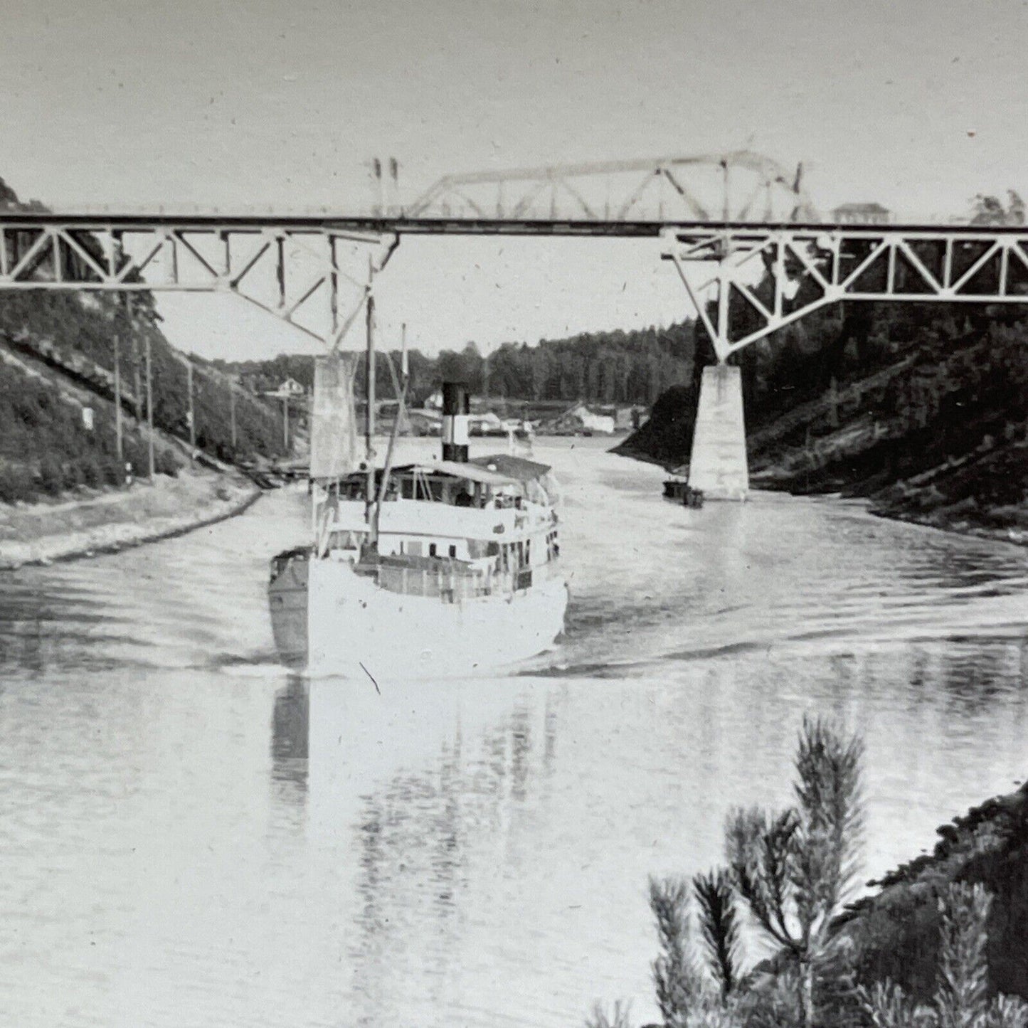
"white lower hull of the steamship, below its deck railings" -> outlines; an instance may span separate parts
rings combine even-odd
[[[306,589],[296,591],[301,579]],[[548,649],[563,629],[567,587],[551,573],[527,589],[443,602],[382,589],[345,561],[294,556],[270,600],[280,653],[313,675],[432,677],[474,674]]]

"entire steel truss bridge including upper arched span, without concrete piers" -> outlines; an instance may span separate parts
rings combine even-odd
[[[1028,226],[822,222],[748,151],[446,176],[353,215],[0,208],[0,291],[235,294],[334,351],[410,235],[653,240],[722,362],[840,300],[1028,302]]]

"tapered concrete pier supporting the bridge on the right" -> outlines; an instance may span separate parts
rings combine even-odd
[[[745,500],[749,491],[742,374],[732,365],[703,369],[689,484],[706,500]]]

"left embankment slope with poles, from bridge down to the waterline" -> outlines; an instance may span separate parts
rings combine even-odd
[[[0,203],[17,205],[2,180]],[[19,241],[8,238],[7,245]],[[281,455],[281,414],[198,362],[197,452],[190,453],[187,371],[159,321],[145,292],[135,294],[131,313],[117,294],[39,291],[0,297],[0,563],[125,545],[224,516],[253,491],[230,466]],[[115,337],[122,460],[113,403]],[[147,342],[156,475],[143,485]]]

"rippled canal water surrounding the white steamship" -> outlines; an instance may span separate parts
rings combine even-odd
[[[298,491],[0,577],[5,1023],[645,1022],[647,876],[790,801],[804,713],[867,738],[869,878],[1025,772],[1025,550],[833,500],[688,510],[598,440],[536,455],[573,598],[506,675],[281,668],[266,567]]]

